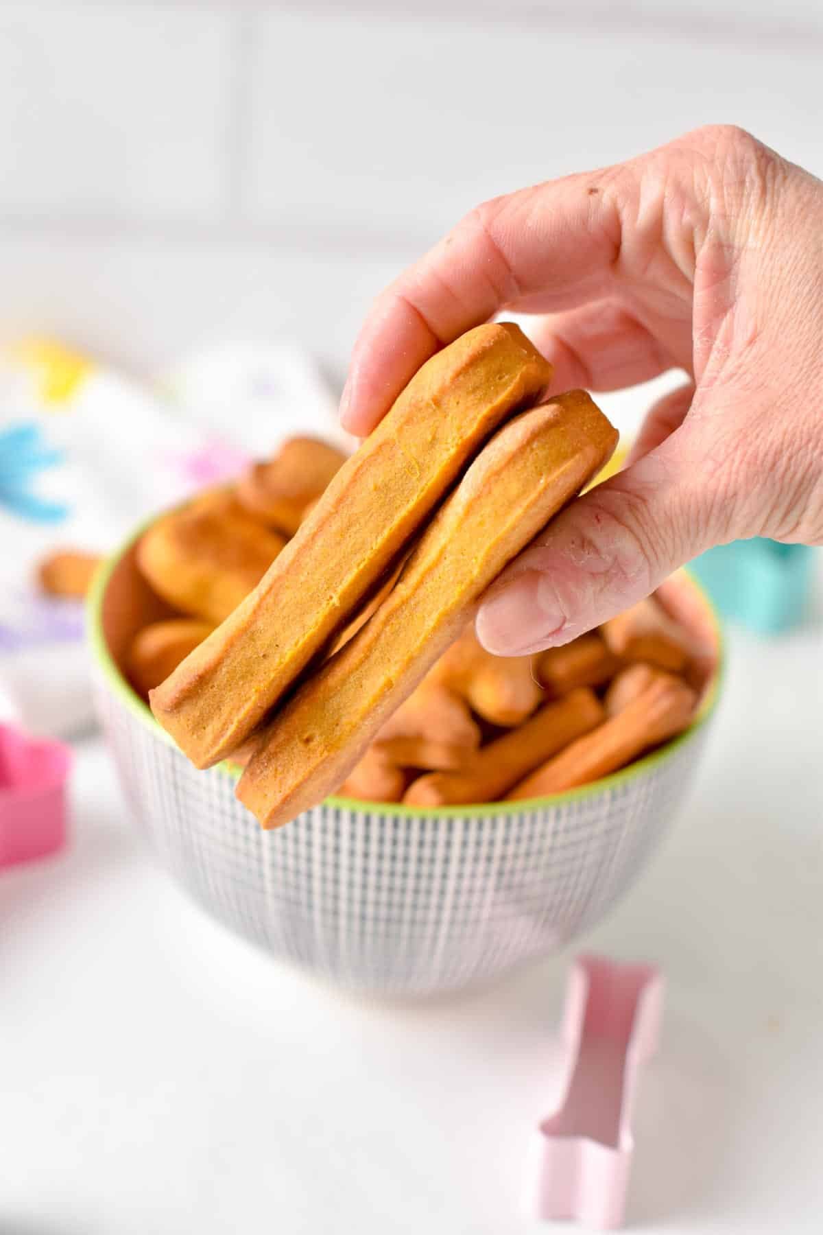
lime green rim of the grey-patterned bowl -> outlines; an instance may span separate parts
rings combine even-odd
[[[138,527],[137,531],[133,532],[128,540],[121,545],[121,547],[97,569],[86,603],[86,625],[91,651],[96,663],[102,669],[104,678],[112,694],[116,695],[126,710],[130,711],[154,737],[159,737],[167,746],[172,746],[176,750],[174,740],[160,725],[158,725],[151,709],[148,708],[148,704],[143,703],[143,700],[134,693],[123,674],[117,668],[102,632],[102,598],[106,588],[109,587],[109,580],[111,579],[117,563],[139,540],[152,522],[154,522],[154,519],[149,519],[141,525],[141,527]],[[362,811],[366,809],[373,813],[380,810],[384,813],[390,811],[392,815],[400,815],[406,819],[420,819],[421,815],[431,815],[438,819],[474,819],[480,809],[485,814],[495,815],[516,815],[522,814],[524,810],[538,810],[547,806],[556,809],[566,803],[580,802],[584,798],[593,798],[611,789],[622,789],[633,781],[640,779],[653,768],[670,758],[675,751],[681,750],[684,746],[687,746],[695,740],[700,730],[714,711],[719,697],[721,683],[726,672],[726,647],[718,613],[695,576],[690,571],[685,571],[684,573],[689,577],[691,585],[700,595],[703,606],[711,618],[717,640],[717,666],[714,669],[714,677],[712,678],[708,690],[703,695],[695,720],[687,730],[679,734],[677,737],[672,739],[670,742],[666,742],[665,746],[651,751],[650,755],[644,755],[643,758],[635,760],[634,763],[629,763],[628,767],[622,768],[619,772],[613,772],[611,776],[602,777],[600,781],[592,781],[590,784],[580,785],[576,789],[568,789],[565,793],[556,793],[544,798],[523,798],[517,802],[486,802],[474,806],[437,806],[429,810],[422,810],[416,806],[405,806],[402,803],[364,802],[359,798],[343,798],[336,794],[326,798],[326,803],[331,806],[339,806],[345,810]],[[218,763],[217,767],[232,779],[239,779],[242,769],[236,763],[225,762]]]

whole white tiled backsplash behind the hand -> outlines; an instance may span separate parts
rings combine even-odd
[[[502,10],[502,11],[501,11]],[[370,296],[486,196],[726,120],[823,170],[823,6],[0,7],[0,329],[138,366]]]

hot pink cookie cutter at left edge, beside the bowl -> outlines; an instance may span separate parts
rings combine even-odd
[[[72,752],[0,724],[0,868],[30,862],[65,841]]]

